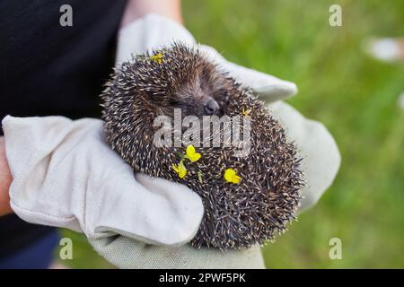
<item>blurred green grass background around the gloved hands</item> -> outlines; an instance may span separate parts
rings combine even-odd
[[[343,27],[329,26],[342,6]],[[335,136],[342,166],[332,187],[274,244],[268,268],[404,267],[404,65],[362,51],[370,36],[404,36],[402,0],[183,1],[186,27],[227,59],[297,83],[288,100]],[[85,238],[72,267],[110,267]],[[342,240],[342,260],[329,239]]]

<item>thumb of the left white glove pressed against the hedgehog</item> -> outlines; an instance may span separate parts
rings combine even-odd
[[[200,197],[188,187],[166,179],[143,174],[136,174],[135,178],[130,166],[120,158],[118,161],[115,165],[108,161],[108,170],[102,172],[105,186],[101,188],[106,198],[92,196],[99,204],[92,203],[96,216],[91,233],[107,227],[147,243],[189,242],[197,233],[203,216]]]

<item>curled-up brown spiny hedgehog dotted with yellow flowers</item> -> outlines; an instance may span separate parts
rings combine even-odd
[[[296,219],[304,186],[298,147],[264,102],[198,47],[174,43],[134,56],[114,70],[101,100],[106,140],[135,172],[184,184],[201,197],[193,247],[262,245]],[[176,111],[195,126],[205,117],[230,120],[215,129],[200,125],[187,141],[192,125],[182,122],[176,133]],[[168,125],[155,125],[158,117]],[[235,127],[248,144],[229,143]],[[164,144],[155,144],[159,131],[169,132]]]

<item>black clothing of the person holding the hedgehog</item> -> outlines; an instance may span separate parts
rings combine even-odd
[[[62,27],[60,6],[73,9]],[[1,0],[0,118],[100,117],[125,0]],[[0,128],[0,135],[3,131]],[[14,214],[0,218],[0,257],[46,233]]]

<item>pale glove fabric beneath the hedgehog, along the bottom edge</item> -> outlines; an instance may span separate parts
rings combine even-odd
[[[104,234],[108,234],[108,230]],[[100,236],[89,239],[92,247],[112,265],[119,268],[151,269],[262,269],[264,260],[259,246],[245,250],[220,251],[215,248],[193,248],[147,245],[124,236]]]

